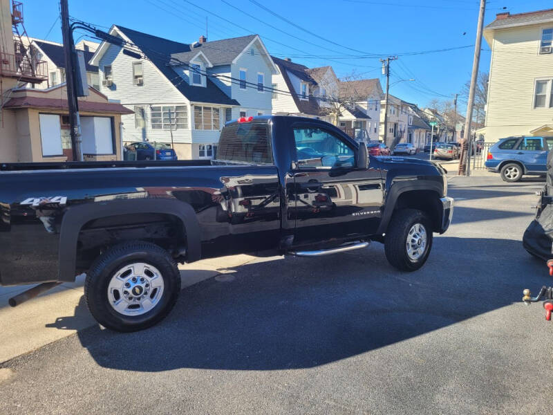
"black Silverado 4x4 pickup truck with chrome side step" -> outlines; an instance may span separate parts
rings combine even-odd
[[[178,262],[379,241],[413,271],[452,214],[440,165],[368,158],[320,120],[241,118],[221,131],[216,160],[0,165],[0,284],[41,283],[16,305],[86,273],[95,319],[135,331],[174,306]]]

